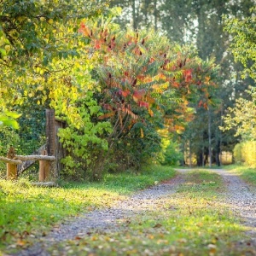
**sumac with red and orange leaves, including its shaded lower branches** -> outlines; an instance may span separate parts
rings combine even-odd
[[[143,148],[159,143],[156,130],[160,127],[183,131],[185,122],[193,118],[191,102],[202,108],[211,103],[216,67],[201,61],[190,46],[169,42],[153,30],[121,31],[102,20],[81,23],[79,32],[90,40],[91,58],[100,59],[96,67],[102,106],[99,120],[113,125],[108,143],[115,154],[122,150],[116,150],[118,144],[126,152],[140,148],[143,154]]]

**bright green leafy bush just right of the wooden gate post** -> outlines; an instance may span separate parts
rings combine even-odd
[[[62,174],[75,179],[85,178],[86,175],[93,177],[97,155],[108,150],[108,142],[103,135],[112,131],[111,125],[108,121],[96,122],[101,115],[101,108],[97,106],[90,91],[87,91],[84,98],[73,102],[73,108],[76,118],[72,115],[62,116],[67,128],[60,129],[58,134],[68,154],[62,160],[65,164]]]

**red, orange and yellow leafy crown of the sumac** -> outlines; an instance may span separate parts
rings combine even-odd
[[[79,32],[90,38],[94,55],[102,57],[97,69],[104,93],[101,119],[118,117],[120,125],[127,114],[130,122],[145,119],[139,108],[150,117],[160,112],[168,119],[171,108],[185,114],[191,101],[204,108],[210,103],[216,67],[203,63],[189,46],[172,44],[154,31],[121,32],[110,24],[81,23]]]

